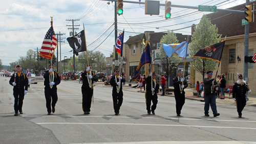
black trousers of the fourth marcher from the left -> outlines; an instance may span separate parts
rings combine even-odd
[[[113,98],[113,106],[115,113],[119,113],[119,109],[123,103],[123,91],[120,90],[119,93],[116,90],[112,91],[112,98]]]

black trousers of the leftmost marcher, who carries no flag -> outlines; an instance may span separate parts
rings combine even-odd
[[[14,96],[14,111],[22,111],[22,105],[24,100],[24,89],[13,90]]]

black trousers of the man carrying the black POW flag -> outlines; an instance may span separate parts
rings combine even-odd
[[[91,111],[93,89],[82,89],[82,110],[83,112]]]

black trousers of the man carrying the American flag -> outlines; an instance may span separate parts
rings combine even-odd
[[[45,97],[46,97],[47,112],[51,113],[52,112],[51,104],[52,104],[52,107],[55,107],[58,101],[57,88],[51,89],[51,88],[45,87]]]

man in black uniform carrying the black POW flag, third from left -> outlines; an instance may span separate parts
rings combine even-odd
[[[92,70],[91,65],[81,74],[82,81],[82,110],[83,114],[90,114],[92,97],[93,97],[93,81],[97,81],[96,75]]]

